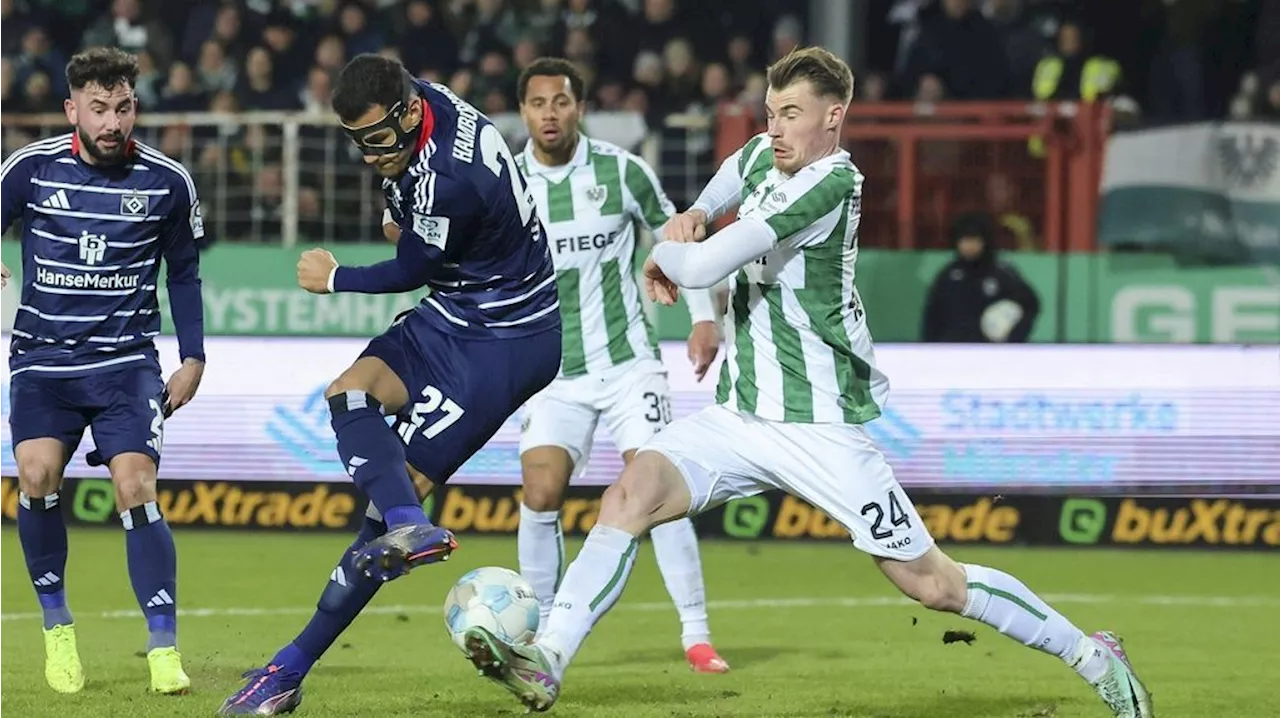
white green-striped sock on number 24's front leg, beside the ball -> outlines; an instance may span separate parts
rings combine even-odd
[[[538,640],[538,645],[554,654],[561,673],[591,627],[622,595],[636,563],[636,544],[631,534],[596,523],[577,558],[568,564],[550,618]]]

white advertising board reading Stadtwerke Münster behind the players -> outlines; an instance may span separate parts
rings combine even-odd
[[[161,476],[347,481],[324,390],[364,346],[209,338],[198,395],[164,425]],[[172,369],[174,342],[163,338],[160,349]],[[718,367],[699,383],[682,343],[662,351],[673,415],[710,404]],[[884,344],[876,361],[891,390],[868,430],[909,489],[1257,493],[1280,479],[1277,347]],[[517,485],[521,420],[512,416],[451,484]],[[86,465],[91,448],[87,433],[69,476],[106,477]],[[607,485],[621,468],[600,422],[577,483]],[[14,474],[6,416],[0,475]]]

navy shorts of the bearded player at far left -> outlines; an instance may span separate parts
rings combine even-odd
[[[13,445],[51,438],[76,451],[86,427],[110,462],[137,452],[160,465],[164,442],[164,381],[155,366],[132,366],[90,376],[64,378],[23,371],[9,385]]]

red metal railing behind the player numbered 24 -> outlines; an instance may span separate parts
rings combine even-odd
[[[844,146],[867,177],[860,244],[941,248],[956,215],[988,211],[1009,248],[1096,246],[1108,110],[1079,102],[854,102]],[[764,131],[754,106],[726,104],[718,163]]]

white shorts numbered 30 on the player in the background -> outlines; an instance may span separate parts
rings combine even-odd
[[[520,453],[561,447],[581,471],[600,419],[620,453],[640,448],[669,424],[671,389],[662,362],[641,358],[552,381],[525,404]]]

